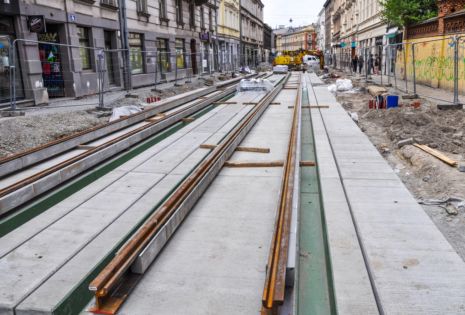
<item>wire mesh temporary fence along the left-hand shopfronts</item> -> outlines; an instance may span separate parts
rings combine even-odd
[[[133,89],[149,90],[163,83],[190,81],[193,76],[235,71],[249,61],[263,61],[221,52],[111,50],[108,46],[88,47],[85,40],[79,45],[59,44],[54,38],[43,40],[15,39],[10,43],[7,36],[0,36],[2,110],[18,109],[23,99],[40,104],[55,99],[53,105],[42,108],[104,106]],[[21,107],[29,108],[36,107]]]

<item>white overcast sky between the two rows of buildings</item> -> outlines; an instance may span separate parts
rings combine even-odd
[[[289,19],[292,19],[292,26],[312,24],[325,2],[324,0],[262,0],[265,5],[264,22],[273,29],[277,25],[290,26]]]

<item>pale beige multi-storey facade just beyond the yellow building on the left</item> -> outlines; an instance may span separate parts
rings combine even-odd
[[[251,66],[263,58],[263,7],[260,0],[241,1],[243,63]]]

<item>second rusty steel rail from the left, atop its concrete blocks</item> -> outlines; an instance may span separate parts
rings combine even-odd
[[[219,94],[223,94],[223,93],[227,93],[227,92],[232,93],[235,89],[236,89],[236,86],[234,85],[233,87],[230,87],[227,90],[221,90],[221,91],[218,91],[218,92],[219,92]],[[218,96],[218,95],[213,95],[213,96],[211,96],[209,98],[212,98],[214,96]],[[188,109],[193,108],[194,106],[199,105],[200,103],[206,102],[207,100],[208,99],[200,99],[198,102],[195,102],[195,103],[193,103],[191,105],[188,105],[188,106],[186,106],[186,107],[184,107],[182,109],[179,109],[179,110],[177,110],[177,111],[175,111],[175,112],[173,112],[171,114],[168,114],[168,115],[166,115],[164,117],[160,117],[160,119],[158,119],[155,122],[147,123],[146,125],[138,128],[138,129],[131,130],[131,131],[127,132],[124,135],[120,135],[119,137],[116,137],[116,138],[114,138],[114,139],[112,139],[110,141],[107,141],[107,142],[101,144],[100,146],[97,146],[95,148],[86,150],[85,152],[83,152],[83,153],[81,153],[79,155],[76,155],[76,156],[74,156],[72,158],[69,158],[66,161],[63,161],[63,162],[61,162],[61,163],[59,163],[57,165],[49,167],[49,168],[47,168],[47,169],[45,169],[43,171],[40,171],[37,174],[33,174],[33,175],[23,179],[23,180],[20,180],[19,182],[16,182],[16,183],[10,185],[10,186],[7,186],[7,187],[0,190],[0,197],[3,197],[5,195],[7,195],[8,193],[12,193],[12,192],[14,192],[15,190],[17,190],[17,189],[19,189],[21,187],[29,185],[29,184],[33,183],[34,181],[36,181],[36,180],[40,180],[41,178],[43,178],[43,177],[45,177],[45,176],[47,176],[49,174],[52,174],[52,173],[66,167],[66,166],[69,166],[69,165],[71,165],[71,164],[73,164],[73,163],[75,163],[77,161],[80,161],[83,158],[85,158],[85,157],[87,157],[87,156],[89,156],[91,154],[94,154],[94,153],[96,153],[98,151],[101,151],[104,148],[107,148],[112,144],[115,144],[115,143],[117,143],[117,142],[119,142],[121,140],[124,140],[124,139],[130,137],[131,135],[135,135],[135,134],[139,133],[142,130],[148,129],[148,128],[156,125],[156,124],[159,124],[159,123],[161,123],[161,122],[163,122],[165,120],[168,120],[168,119],[172,118],[173,116],[176,116],[176,115],[178,115],[178,114],[180,114],[180,113],[182,113],[182,112],[184,112],[184,111],[186,111]],[[138,113],[136,113],[136,114],[138,114]],[[133,115],[135,115],[135,114],[133,114]]]

